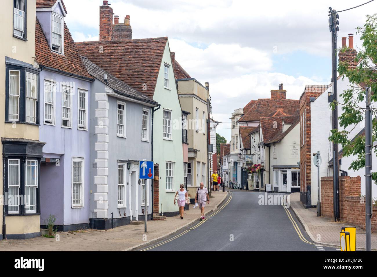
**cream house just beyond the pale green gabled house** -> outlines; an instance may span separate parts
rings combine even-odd
[[[177,74],[178,63],[175,62],[175,77],[182,77]],[[208,87],[203,86],[195,78],[180,78],[178,83],[178,96],[182,110],[190,112],[187,116],[187,142],[188,164],[187,164],[187,188],[194,200],[200,182],[208,188]]]

